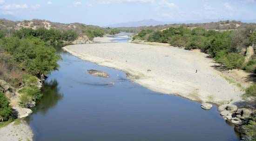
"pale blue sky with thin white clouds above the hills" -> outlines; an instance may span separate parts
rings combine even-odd
[[[0,14],[106,26],[155,19],[256,19],[256,0],[0,0]]]

